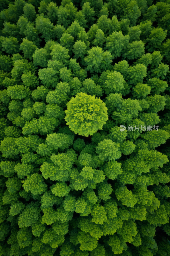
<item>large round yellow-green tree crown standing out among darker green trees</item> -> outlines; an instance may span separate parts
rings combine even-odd
[[[81,105],[79,105],[80,102]],[[81,108],[82,110],[79,112]],[[78,93],[75,98],[72,97],[67,103],[65,113],[65,120],[69,128],[83,136],[93,135],[108,120],[105,104],[100,99],[95,99],[94,96],[82,92]]]

